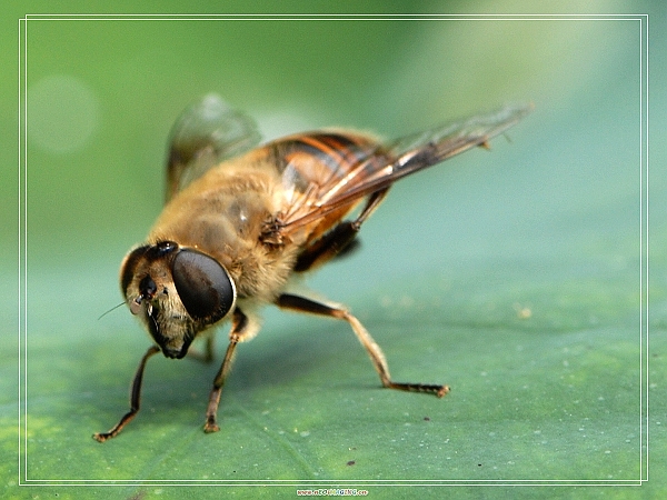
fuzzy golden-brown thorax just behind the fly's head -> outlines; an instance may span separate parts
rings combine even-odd
[[[275,169],[222,163],[177,194],[149,241],[178,241],[218,260],[235,279],[239,298],[272,301],[293,267],[297,248],[265,244],[262,230],[282,209]]]

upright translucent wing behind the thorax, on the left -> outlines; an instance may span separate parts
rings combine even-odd
[[[167,201],[207,170],[259,143],[255,121],[209,93],[173,124],[167,162]]]

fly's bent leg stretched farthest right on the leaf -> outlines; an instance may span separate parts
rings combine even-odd
[[[291,309],[299,312],[309,312],[312,314],[321,314],[328,316],[330,318],[342,319],[346,320],[357,338],[359,342],[366,348],[366,351],[370,356],[370,360],[375,366],[378,374],[380,376],[380,380],[384,387],[389,389],[398,389],[401,391],[409,392],[427,392],[431,394],[436,394],[438,398],[441,398],[447,392],[449,392],[449,386],[437,386],[437,384],[425,384],[425,383],[401,383],[394,382],[391,377],[389,376],[389,367],[387,364],[387,359],[382,353],[380,347],[372,340],[370,333],[364,328],[364,326],[359,322],[357,318],[350,314],[344,308],[332,307],[326,303],[317,302],[312,299],[308,299],[301,296],[293,296],[289,293],[283,293],[278,297],[276,303],[278,307],[283,309]]]

